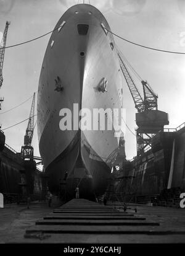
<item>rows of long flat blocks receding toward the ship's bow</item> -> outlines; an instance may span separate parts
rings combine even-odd
[[[162,229],[156,221],[147,221],[112,206],[89,200],[73,199],[25,231],[27,243],[124,243],[158,242],[173,231]],[[151,240],[152,239],[152,240]]]

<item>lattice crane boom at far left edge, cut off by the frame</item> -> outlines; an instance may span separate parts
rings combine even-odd
[[[1,40],[1,44],[0,44],[0,88],[2,86],[2,66],[3,66],[3,62],[4,62],[4,51],[5,51],[5,46],[6,46],[6,39],[7,39],[7,30],[9,28],[10,22],[7,21],[6,22],[6,27],[4,29],[4,33],[2,36],[2,40]]]

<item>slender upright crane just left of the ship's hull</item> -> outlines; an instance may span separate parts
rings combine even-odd
[[[33,138],[33,131],[35,128],[34,116],[35,116],[35,92],[33,94],[30,117],[28,120],[28,126],[26,130],[25,138],[24,138],[24,146],[22,146],[21,148],[21,157],[23,159],[33,159],[33,147],[31,146],[31,141]]]

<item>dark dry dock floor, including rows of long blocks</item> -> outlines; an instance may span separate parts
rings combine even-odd
[[[137,210],[125,213],[83,199],[59,208],[9,204],[0,208],[0,243],[185,243],[184,209],[138,205]]]

